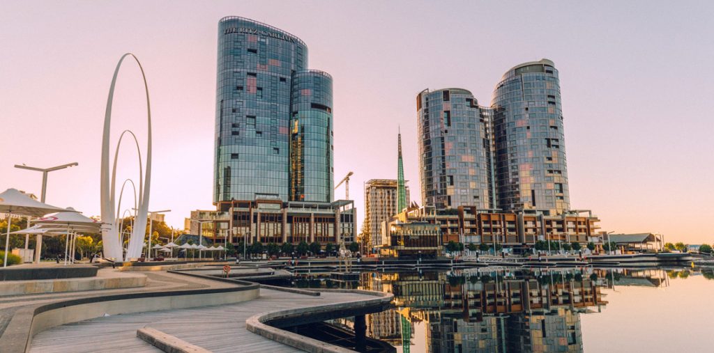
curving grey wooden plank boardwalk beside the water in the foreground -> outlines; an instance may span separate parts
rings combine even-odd
[[[246,319],[260,312],[373,299],[369,295],[323,292],[320,297],[261,289],[256,300],[231,305],[114,315],[65,324],[37,334],[30,352],[161,352],[136,337],[151,327],[212,352],[300,352],[253,334]]]

